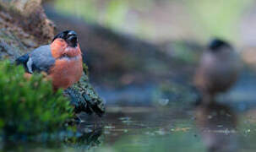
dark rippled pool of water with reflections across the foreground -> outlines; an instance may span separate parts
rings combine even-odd
[[[83,116],[89,120],[79,124],[79,138],[6,143],[1,151],[254,151],[256,111],[235,113],[222,105],[109,106],[103,118]]]

